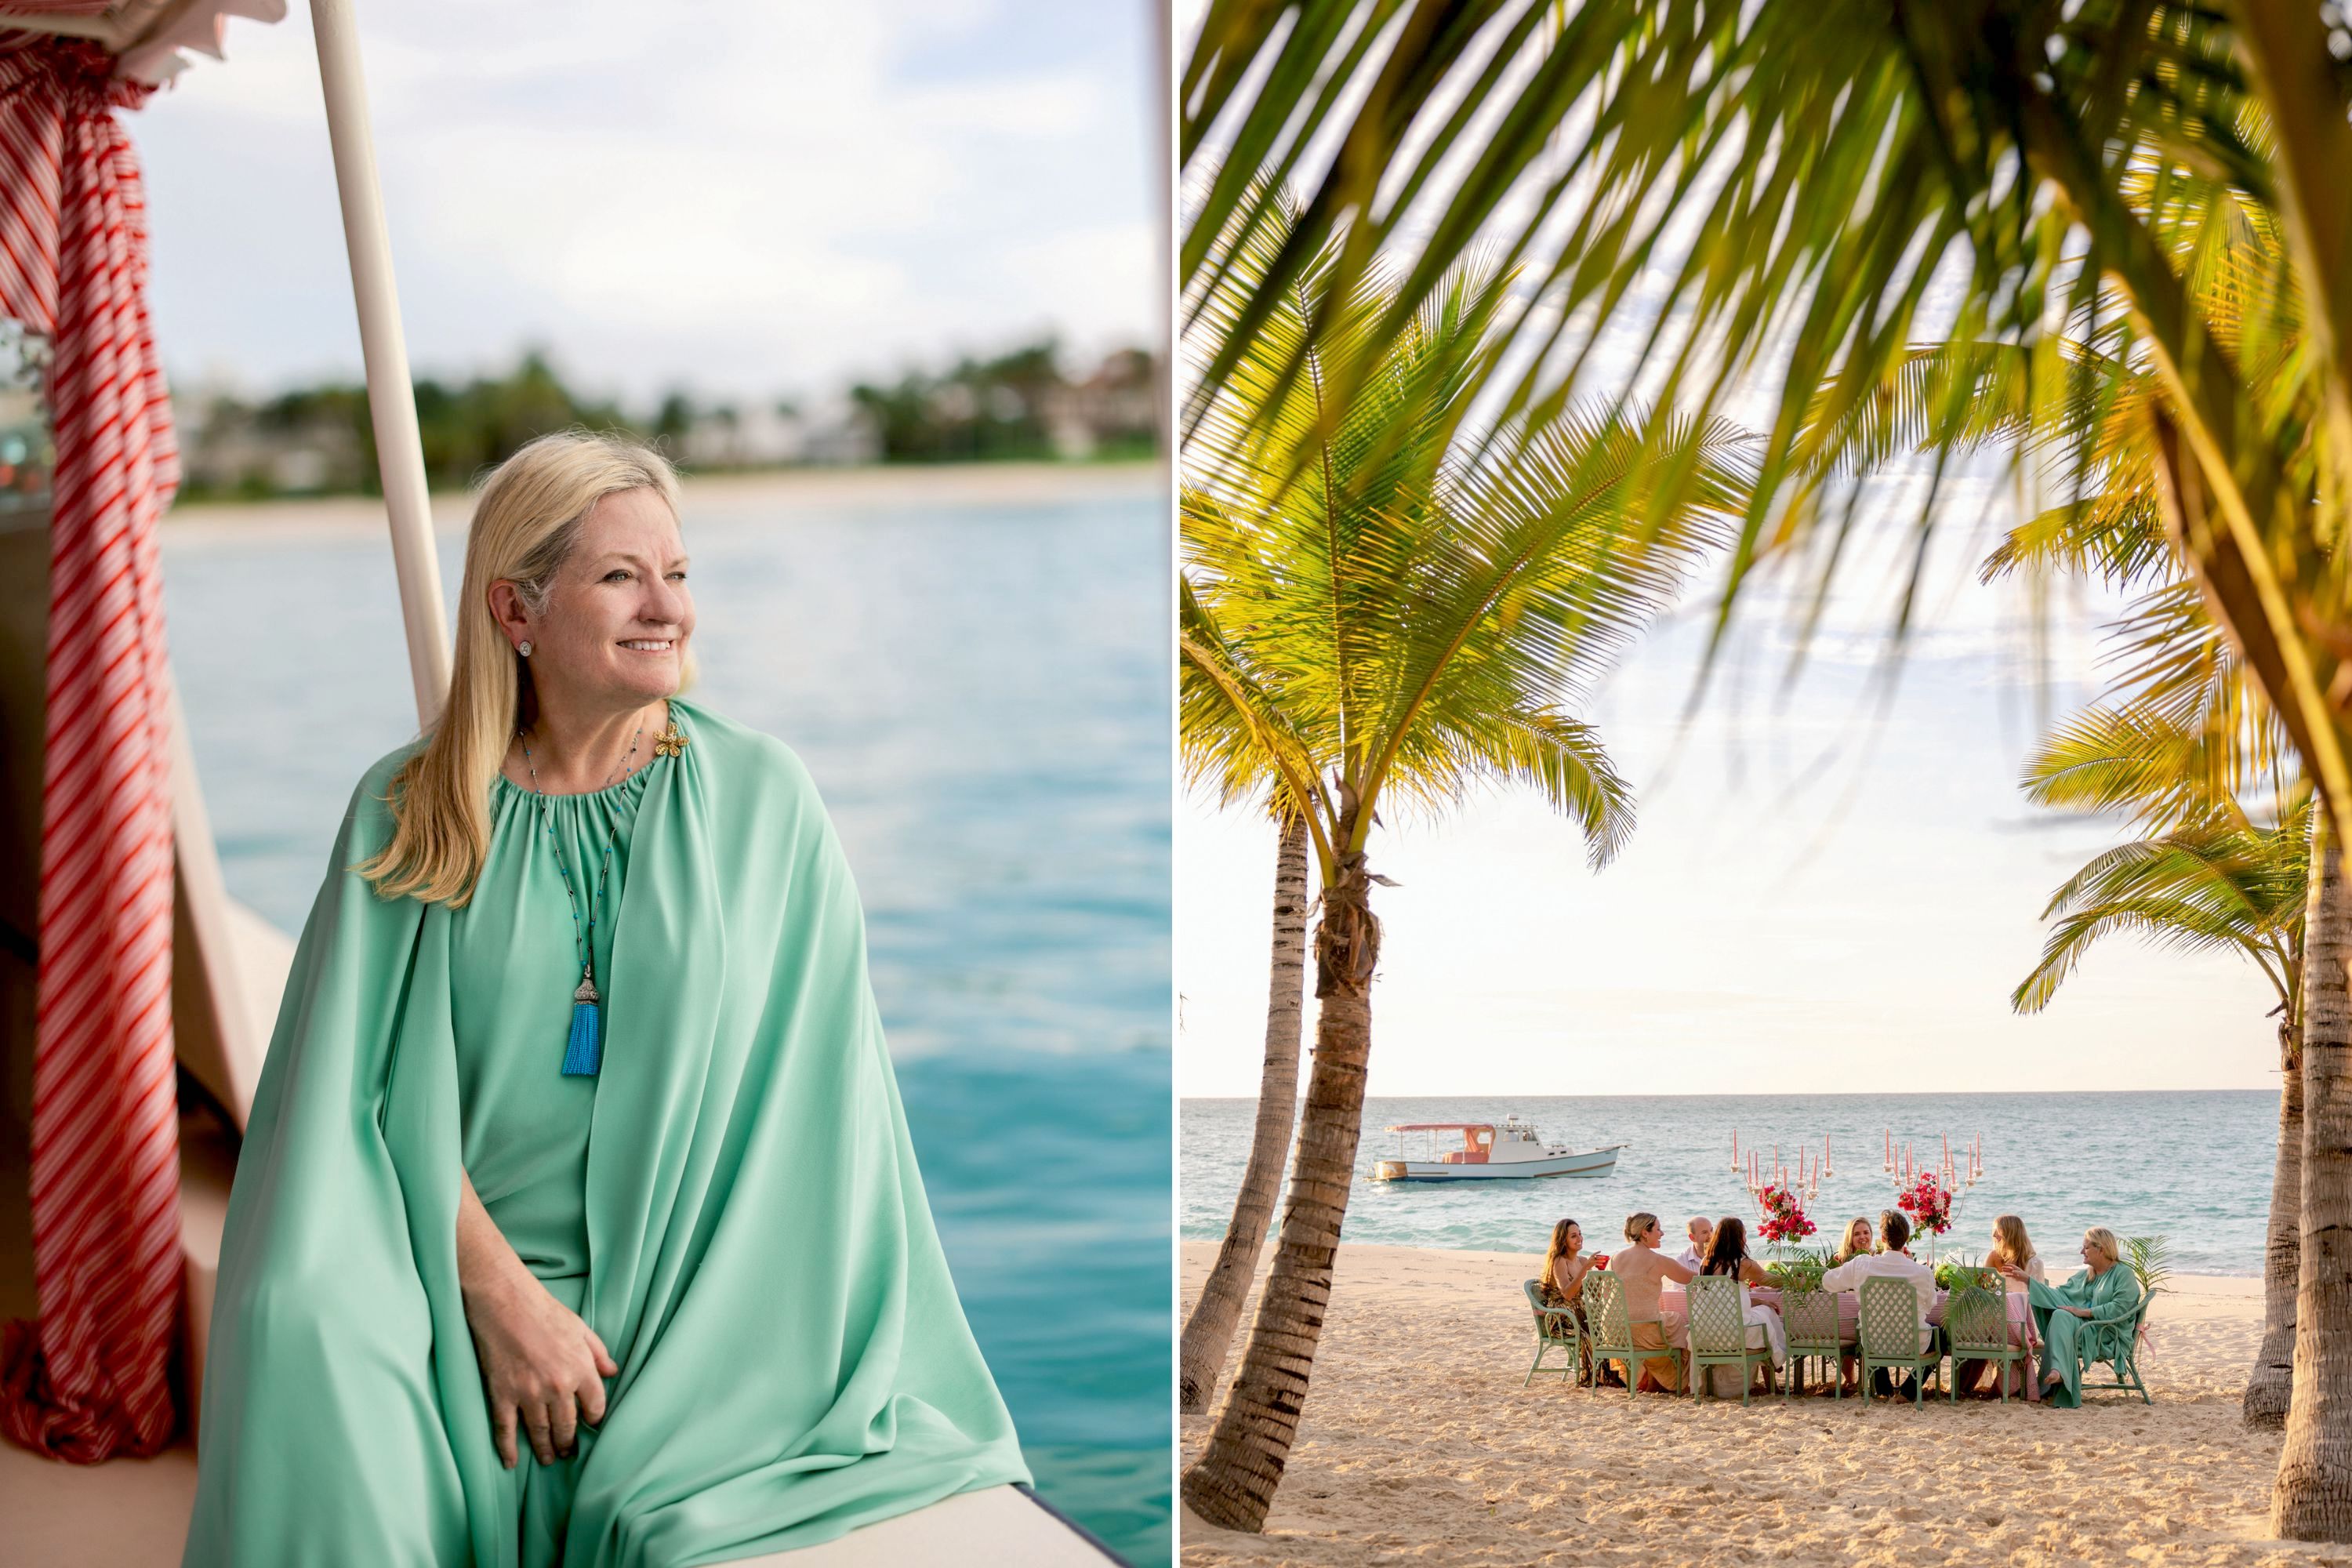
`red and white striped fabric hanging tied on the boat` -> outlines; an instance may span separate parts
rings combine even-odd
[[[56,437],[33,1065],[40,1324],[0,1345],[0,1432],[59,1460],[179,1422],[172,752],[155,522],[179,487],[146,315],[146,202],[85,40],[0,33],[0,313],[45,334]]]

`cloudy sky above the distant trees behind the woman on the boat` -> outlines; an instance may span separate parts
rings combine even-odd
[[[666,26],[654,26],[659,16]],[[416,374],[652,402],[1152,341],[1145,0],[360,7]],[[310,12],[127,113],[174,381],[360,374]]]

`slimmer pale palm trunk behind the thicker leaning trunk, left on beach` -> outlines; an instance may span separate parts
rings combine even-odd
[[[1225,1371],[1232,1328],[1242,1321],[1242,1298],[1249,1276],[1258,1272],[1258,1248],[1275,1218],[1282,1192],[1282,1159],[1291,1152],[1291,1121],[1298,1119],[1298,1025],[1305,1016],[1308,973],[1308,823],[1298,813],[1282,818],[1282,846],[1275,851],[1275,964],[1265,994],[1265,1065],[1258,1070],[1258,1126],[1249,1135],[1249,1166],[1242,1168],[1242,1194],[1232,1201],[1225,1244],[1216,1248],[1192,1316],[1185,1319],[1176,1352],[1176,1408],[1200,1415],[1209,1408],[1216,1375]]]

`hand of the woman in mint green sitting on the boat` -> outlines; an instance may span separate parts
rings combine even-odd
[[[517,1427],[529,1434],[539,1462],[553,1465],[574,1453],[581,1422],[604,1420],[604,1378],[621,1366],[595,1328],[527,1269],[466,1293],[466,1326],[482,1366],[499,1462],[508,1469],[517,1458]]]

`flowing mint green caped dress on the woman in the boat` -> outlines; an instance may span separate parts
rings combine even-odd
[[[840,842],[776,738],[673,698],[621,785],[499,778],[466,907],[348,867],[294,950],[221,1237],[186,1568],[687,1568],[1028,1481],[931,1227]],[[564,1077],[576,936],[602,1063]],[[572,1458],[496,1455],[459,1168],[612,1349]]]

